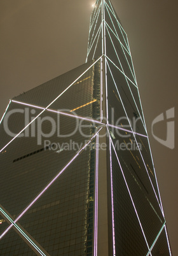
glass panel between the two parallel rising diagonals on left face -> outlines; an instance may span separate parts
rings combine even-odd
[[[1,155],[3,207],[17,217],[92,138],[95,127],[92,122],[43,113],[35,127],[30,127],[34,136],[16,138]]]

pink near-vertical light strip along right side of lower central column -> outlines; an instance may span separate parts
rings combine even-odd
[[[107,128],[109,134],[109,130]],[[116,255],[116,239],[115,239],[115,228],[114,228],[114,195],[113,195],[113,166],[112,166],[112,155],[111,155],[111,139],[109,139],[109,153],[110,153],[110,173],[111,173],[111,208],[112,208],[112,227],[113,227],[113,256]]]

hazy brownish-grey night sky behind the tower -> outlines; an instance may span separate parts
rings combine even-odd
[[[170,150],[151,134],[156,116],[173,107],[177,113],[177,1],[112,2],[128,34],[172,253],[178,255],[177,141],[175,149]],[[85,62],[93,3],[0,1],[1,116],[11,97]],[[166,139],[166,124],[160,124],[155,132]]]

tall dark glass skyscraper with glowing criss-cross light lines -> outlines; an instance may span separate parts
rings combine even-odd
[[[109,0],[86,63],[1,119],[1,255],[171,255],[127,34]]]

